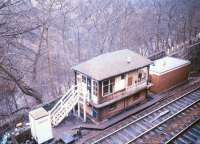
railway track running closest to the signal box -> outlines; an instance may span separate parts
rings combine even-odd
[[[176,98],[92,143],[135,143],[144,135],[162,129],[162,126],[166,126],[168,121],[184,115],[185,111],[193,110],[195,107],[200,107],[200,89]],[[166,135],[166,137],[170,139],[173,135]]]

